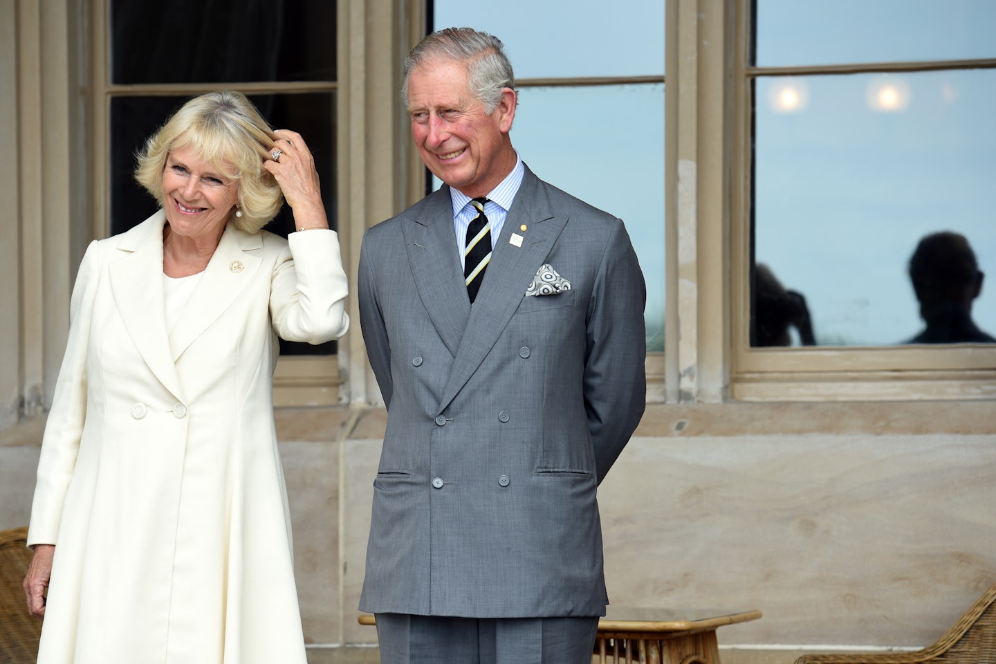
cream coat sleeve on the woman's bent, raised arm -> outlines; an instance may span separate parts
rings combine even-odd
[[[277,333],[288,341],[323,343],[350,327],[346,313],[349,285],[333,230],[291,233],[289,251],[274,268],[270,314]]]

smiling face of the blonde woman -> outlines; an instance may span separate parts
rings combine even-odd
[[[221,237],[238,201],[238,183],[189,148],[175,149],[162,171],[162,198],[171,232]]]

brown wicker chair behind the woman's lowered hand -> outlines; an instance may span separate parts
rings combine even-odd
[[[38,659],[42,621],[28,614],[21,582],[31,550],[27,528],[0,532],[0,662],[32,664]]]

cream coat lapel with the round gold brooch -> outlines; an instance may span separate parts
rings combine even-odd
[[[197,288],[169,334],[172,361],[217,321],[249,285],[262,263],[251,250],[262,246],[260,235],[249,235],[231,224],[225,228]]]

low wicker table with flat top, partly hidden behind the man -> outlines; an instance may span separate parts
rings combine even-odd
[[[600,664],[719,664],[716,628],[757,620],[761,611],[672,611],[610,606],[599,620],[595,660]],[[375,624],[360,615],[360,624]]]

